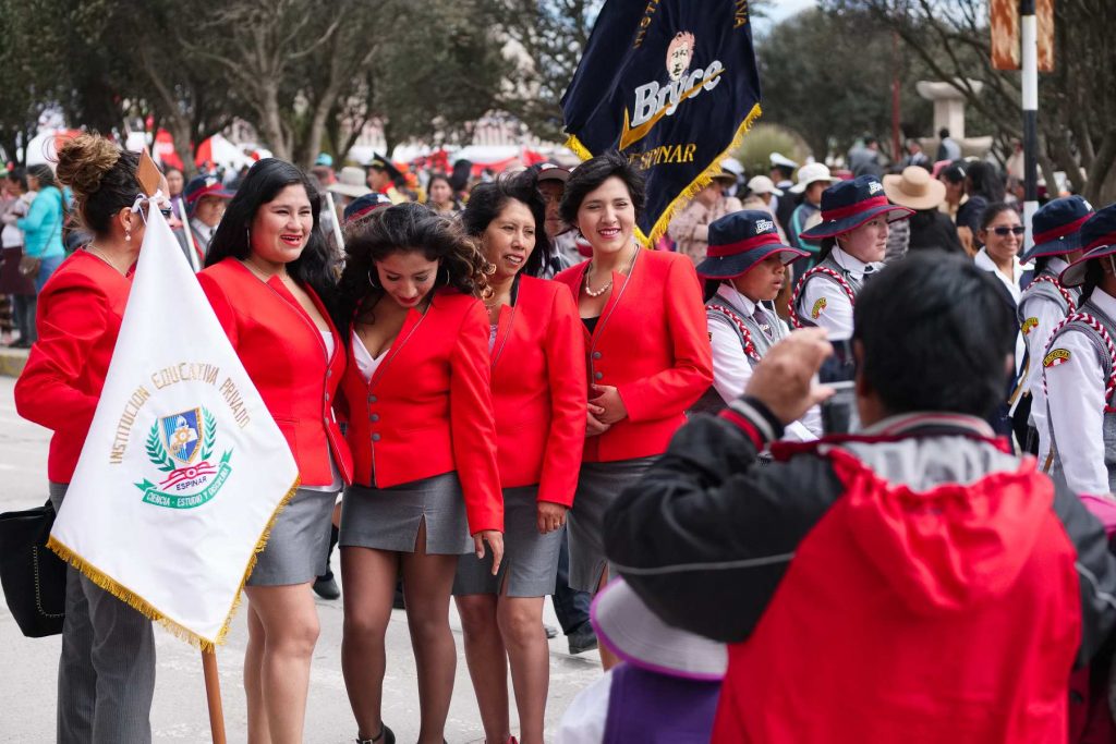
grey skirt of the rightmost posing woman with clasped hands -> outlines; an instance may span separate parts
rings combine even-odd
[[[605,512],[620,491],[639,480],[657,457],[581,463],[574,508],[569,511],[569,586],[596,592],[605,559]],[[609,577],[614,576],[609,571]]]

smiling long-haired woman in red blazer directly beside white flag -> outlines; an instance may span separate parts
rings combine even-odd
[[[334,291],[317,190],[296,166],[256,163],[198,274],[248,376],[283,433],[301,483],[248,579],[249,741],[301,741],[330,516],[353,462],[333,412],[345,348],[320,294]]]

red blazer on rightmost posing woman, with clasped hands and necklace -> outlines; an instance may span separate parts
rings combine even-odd
[[[555,277],[575,301],[587,267],[588,261]],[[683,412],[713,381],[705,306],[693,263],[680,253],[639,251],[631,276],[613,272],[596,330],[583,332],[589,383],[615,386],[628,412],[604,434],[586,437],[586,462],[662,454],[685,423]]]

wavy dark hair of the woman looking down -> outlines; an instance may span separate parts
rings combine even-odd
[[[348,328],[365,299],[379,299],[383,289],[369,286],[375,263],[393,253],[421,252],[437,261],[437,284],[449,284],[464,294],[485,298],[492,293],[488,274],[491,264],[452,218],[435,214],[422,204],[404,202],[376,210],[365,220],[347,226],[345,270],[338,287],[336,320]],[[368,303],[367,307],[372,307]]]

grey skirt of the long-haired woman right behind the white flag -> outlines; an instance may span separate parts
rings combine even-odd
[[[326,572],[336,491],[299,489],[271,526],[249,587],[308,583]]]

